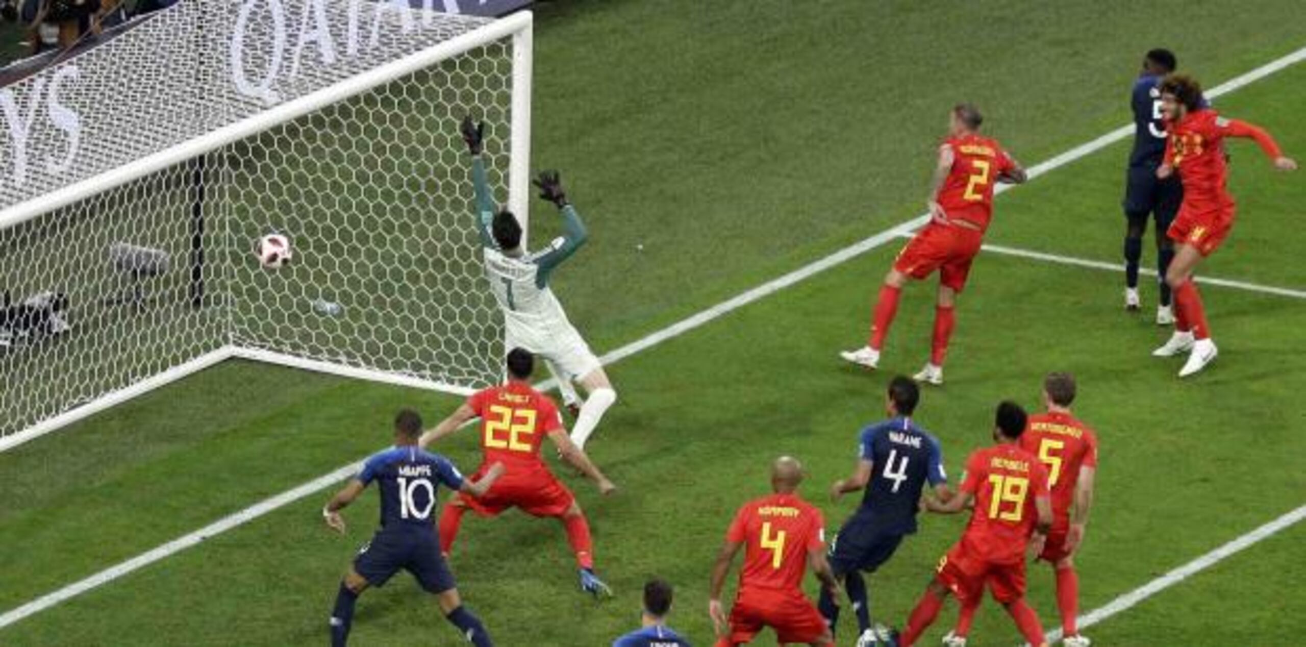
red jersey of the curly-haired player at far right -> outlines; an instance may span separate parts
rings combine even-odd
[[[1266,131],[1220,116],[1212,108],[1194,110],[1166,125],[1165,163],[1178,169],[1183,182],[1183,204],[1194,212],[1211,212],[1233,205],[1226,180],[1229,163],[1225,156],[1225,137],[1256,140],[1271,159],[1282,156],[1279,144]]]

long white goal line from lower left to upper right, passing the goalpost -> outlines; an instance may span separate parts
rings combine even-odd
[[[1225,81],[1224,84],[1216,86],[1209,93],[1207,93],[1207,95],[1215,98],[1215,97],[1218,97],[1221,94],[1233,91],[1233,90],[1235,90],[1238,88],[1242,88],[1242,86],[1245,86],[1245,85],[1247,85],[1247,84],[1250,84],[1252,81],[1256,81],[1259,78],[1264,78],[1264,77],[1267,77],[1269,75],[1273,75],[1275,72],[1279,72],[1279,71],[1281,71],[1284,68],[1288,68],[1288,67],[1290,67],[1290,65],[1293,65],[1296,63],[1299,63],[1302,60],[1306,60],[1306,47],[1302,47],[1301,50],[1297,50],[1297,51],[1294,51],[1294,52],[1292,52],[1292,54],[1289,54],[1289,55],[1286,55],[1286,56],[1284,56],[1281,59],[1277,59],[1277,60],[1273,60],[1271,63],[1267,63],[1267,64],[1264,64],[1264,65],[1262,65],[1262,67],[1259,67],[1256,69],[1252,69],[1250,72],[1239,75],[1235,78]],[[1064,166],[1067,163],[1075,162],[1075,161],[1077,161],[1077,159],[1080,159],[1080,158],[1083,158],[1085,156],[1096,153],[1096,152],[1098,152],[1098,150],[1101,150],[1101,149],[1104,149],[1104,148],[1106,148],[1106,146],[1109,146],[1109,145],[1111,145],[1111,144],[1114,144],[1117,141],[1121,141],[1121,140],[1128,137],[1131,132],[1134,132],[1134,128],[1131,125],[1130,127],[1117,128],[1117,129],[1114,129],[1114,131],[1111,131],[1111,132],[1109,132],[1106,135],[1102,135],[1101,137],[1097,137],[1097,139],[1094,139],[1092,141],[1088,141],[1085,144],[1075,146],[1075,148],[1072,148],[1072,149],[1070,149],[1070,150],[1067,150],[1067,152],[1064,152],[1064,153],[1062,153],[1062,154],[1059,154],[1057,157],[1053,157],[1051,159],[1046,159],[1046,161],[1043,161],[1043,162],[1041,162],[1038,165],[1034,165],[1034,166],[1029,167],[1028,169],[1029,176],[1030,178],[1037,178],[1037,176],[1040,176],[1040,175],[1042,175],[1042,174],[1045,174],[1045,173],[1047,173],[1047,171],[1050,171],[1053,169],[1058,169],[1058,167]],[[1011,188],[1011,187],[1010,186],[999,186],[998,187],[999,192],[1006,191],[1008,188]],[[925,225],[927,221],[929,221],[929,214],[922,214],[922,216],[917,216],[916,218],[912,218],[912,220],[909,220],[906,222],[902,222],[900,225],[889,227],[889,229],[887,229],[884,231],[880,231],[879,234],[875,234],[875,235],[872,235],[870,238],[866,238],[866,239],[863,239],[863,241],[861,241],[858,243],[854,243],[854,244],[852,244],[849,247],[838,250],[838,251],[836,251],[836,252],[833,252],[833,254],[831,254],[831,255],[828,255],[828,256],[825,256],[823,259],[819,259],[819,260],[812,261],[812,263],[810,263],[807,265],[803,265],[802,268],[798,268],[798,269],[795,269],[795,271],[793,271],[793,272],[790,272],[788,274],[784,274],[784,276],[781,276],[778,278],[773,278],[773,280],[771,280],[771,281],[768,281],[768,282],[765,282],[765,284],[763,284],[763,285],[760,285],[757,288],[754,288],[754,289],[747,290],[747,291],[744,291],[744,293],[742,293],[742,294],[739,294],[739,295],[737,295],[734,298],[730,298],[730,299],[724,301],[724,302],[721,302],[721,303],[718,303],[716,306],[712,306],[708,310],[704,310],[704,311],[701,311],[701,312],[699,312],[696,315],[692,315],[692,316],[690,316],[687,319],[683,319],[683,320],[680,320],[680,322],[678,322],[675,324],[671,324],[671,325],[669,325],[669,327],[666,327],[666,328],[663,328],[661,331],[657,331],[657,332],[654,332],[652,335],[648,335],[648,336],[645,336],[643,339],[632,341],[632,342],[629,342],[629,344],[627,344],[627,345],[624,345],[622,348],[618,348],[618,349],[615,349],[615,350],[605,354],[602,357],[602,361],[603,361],[603,363],[618,362],[618,361],[620,361],[620,359],[623,359],[626,357],[629,357],[629,356],[632,356],[635,353],[639,353],[641,350],[652,348],[652,346],[654,346],[657,344],[661,344],[663,341],[667,341],[670,339],[678,337],[678,336],[680,336],[680,335],[683,335],[686,332],[690,332],[690,331],[692,331],[695,328],[699,328],[700,325],[703,325],[703,324],[705,324],[708,322],[712,322],[712,320],[718,319],[718,318],[721,318],[721,316],[724,316],[724,315],[726,315],[729,312],[733,312],[733,311],[735,311],[735,310],[738,310],[738,308],[741,308],[743,306],[747,306],[748,303],[752,303],[752,302],[759,301],[759,299],[761,299],[764,297],[774,294],[774,293],[777,293],[777,291],[780,291],[780,290],[782,290],[782,289],[785,289],[785,288],[788,288],[790,285],[794,285],[794,284],[797,284],[799,281],[810,278],[810,277],[812,277],[812,276],[815,276],[815,274],[818,274],[820,272],[824,272],[824,271],[827,271],[827,269],[829,269],[832,267],[836,267],[836,265],[838,265],[841,263],[845,263],[845,261],[848,261],[848,260],[850,260],[850,259],[853,259],[853,257],[855,257],[855,256],[858,256],[861,254],[865,254],[865,252],[871,251],[871,250],[874,250],[876,247],[880,247],[880,246],[883,246],[883,244],[893,241],[899,235],[901,235],[904,233],[908,233],[908,231],[910,231],[913,229],[917,229],[921,225]],[[350,464],[347,467],[340,468],[340,469],[337,469],[334,472],[329,473],[329,474],[324,474],[321,477],[313,478],[312,481],[308,481],[308,482],[306,482],[306,484],[303,484],[303,485],[300,485],[300,486],[298,486],[298,488],[295,488],[293,490],[287,490],[287,491],[281,493],[281,494],[278,494],[276,497],[264,499],[264,501],[261,501],[259,503],[255,503],[253,506],[249,506],[249,507],[247,507],[244,510],[240,510],[240,511],[238,511],[238,512],[235,512],[235,514],[232,514],[230,516],[225,516],[225,518],[222,518],[222,519],[219,519],[219,520],[217,520],[217,522],[214,522],[214,523],[212,523],[212,524],[209,524],[209,525],[206,525],[206,527],[204,527],[204,528],[201,528],[199,531],[195,531],[195,532],[192,532],[189,535],[184,535],[182,537],[178,537],[178,539],[175,539],[175,540],[172,540],[172,541],[170,541],[167,544],[163,544],[163,545],[161,545],[161,546],[158,546],[158,548],[155,548],[153,550],[142,553],[142,554],[140,554],[137,557],[133,557],[133,558],[131,558],[131,559],[128,559],[125,562],[121,562],[119,565],[111,566],[111,567],[108,567],[108,569],[106,569],[103,571],[99,571],[99,572],[97,572],[94,575],[90,575],[90,576],[88,576],[85,579],[81,579],[81,580],[74,582],[72,584],[68,584],[68,586],[65,586],[65,587],[63,587],[63,588],[60,588],[57,591],[54,591],[54,592],[47,593],[47,595],[44,595],[42,597],[38,597],[38,599],[35,599],[35,600],[33,600],[33,601],[30,601],[27,604],[24,604],[22,606],[18,606],[16,609],[5,612],[4,614],[0,614],[0,629],[4,629],[7,626],[9,626],[9,625],[13,625],[14,622],[18,622],[20,620],[26,618],[29,616],[33,616],[35,613],[40,613],[42,610],[46,610],[46,609],[48,609],[51,606],[55,606],[55,605],[57,605],[57,604],[60,604],[60,603],[63,603],[65,600],[69,600],[69,599],[76,597],[76,596],[78,596],[81,593],[85,593],[86,591],[90,591],[90,589],[97,588],[99,586],[103,586],[103,584],[106,584],[108,582],[112,582],[112,580],[115,580],[115,579],[118,579],[118,578],[120,578],[123,575],[127,575],[127,574],[129,574],[129,572],[132,572],[132,571],[135,571],[135,570],[137,570],[137,569],[140,569],[142,566],[148,566],[148,565],[154,563],[154,562],[157,562],[159,559],[163,559],[165,557],[168,557],[168,556],[172,556],[172,554],[175,554],[178,552],[185,550],[187,548],[191,548],[191,546],[199,544],[200,541],[202,541],[202,540],[205,540],[208,537],[212,537],[212,536],[219,535],[222,532],[230,531],[231,528],[235,528],[235,527],[242,525],[242,524],[244,524],[247,522],[257,519],[257,518],[260,518],[260,516],[263,516],[263,515],[265,515],[268,512],[272,512],[273,510],[277,510],[277,508],[279,508],[282,506],[294,503],[294,502],[296,502],[296,501],[299,501],[299,499],[302,499],[304,497],[308,497],[311,494],[321,491],[321,490],[329,488],[332,484],[338,482],[338,481],[349,477],[350,474],[353,474],[357,471],[357,468],[358,468],[358,464],[355,463],[355,464]]]

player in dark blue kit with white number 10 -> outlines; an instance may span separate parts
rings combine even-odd
[[[423,589],[436,596],[444,617],[477,647],[490,647],[490,634],[481,620],[462,606],[453,574],[440,557],[440,540],[435,533],[435,490],[445,488],[479,497],[503,474],[495,464],[479,481],[464,478],[453,463],[417,446],[422,435],[422,417],[404,409],[394,418],[394,446],[372,455],[363,471],[323,508],[326,525],[345,532],[340,511],[354,502],[376,481],[381,493],[381,528],[363,544],[354,565],[340,583],[336,609],[330,617],[330,642],[341,647],[349,639],[354,604],[367,587],[381,587],[400,570],[417,578]]]

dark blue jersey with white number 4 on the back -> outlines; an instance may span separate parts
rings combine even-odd
[[[859,451],[862,460],[871,463],[862,512],[884,531],[916,532],[925,484],[948,481],[939,440],[912,418],[899,417],[863,429]]]

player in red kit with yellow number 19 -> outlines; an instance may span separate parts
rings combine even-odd
[[[938,572],[912,610],[899,642],[910,647],[939,616],[947,596],[963,606],[977,605],[985,584],[1007,608],[1025,640],[1046,647],[1038,614],[1025,603],[1025,550],[1040,554],[1053,525],[1047,468],[1020,447],[1027,416],[1015,403],[998,405],[993,447],[966,459],[961,493],[940,503],[926,499],[931,512],[956,514],[974,502],[961,541],[939,561]]]

